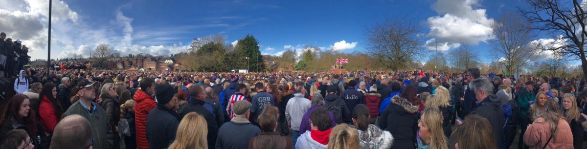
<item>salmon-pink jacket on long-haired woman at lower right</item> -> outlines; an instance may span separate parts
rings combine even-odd
[[[564,118],[558,120],[558,130],[556,137],[552,137],[546,148],[552,149],[572,149],[573,148],[573,134],[569,123],[566,123]],[[538,117],[526,129],[524,133],[524,143],[530,148],[542,149],[548,138],[551,137],[550,124],[544,121],[544,118]]]

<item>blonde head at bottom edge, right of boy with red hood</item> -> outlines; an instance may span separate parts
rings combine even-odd
[[[339,124],[332,128],[328,149],[355,149],[359,148],[359,133],[348,124]]]

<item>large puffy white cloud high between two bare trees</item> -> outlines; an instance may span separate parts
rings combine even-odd
[[[456,48],[456,43],[477,45],[492,39],[491,23],[486,10],[478,8],[479,0],[438,0],[433,5],[434,11],[443,14],[427,19],[430,27],[428,36],[435,42],[446,45],[444,48]],[[474,9],[475,7],[476,9]],[[430,42],[430,40],[429,40]],[[440,50],[440,47],[439,47]]]

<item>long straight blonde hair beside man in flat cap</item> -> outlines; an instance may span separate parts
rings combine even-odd
[[[177,127],[176,140],[168,149],[208,148],[208,124],[203,116],[190,112]]]

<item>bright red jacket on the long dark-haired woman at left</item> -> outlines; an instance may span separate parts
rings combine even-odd
[[[61,108],[59,105],[57,107]],[[56,113],[53,103],[49,101],[47,96],[43,96],[41,105],[39,106],[39,115],[41,116],[41,124],[45,132],[53,134],[53,130],[55,130],[55,126],[61,120],[62,114],[63,112]]]

